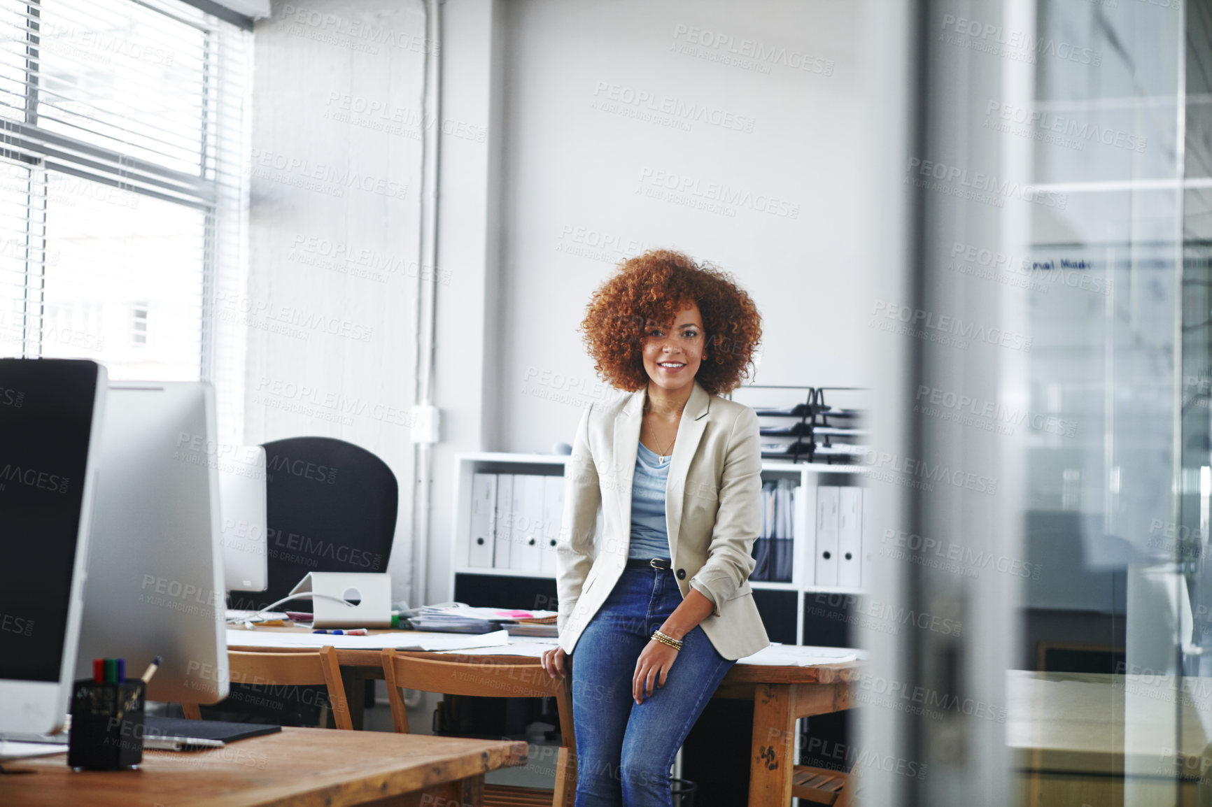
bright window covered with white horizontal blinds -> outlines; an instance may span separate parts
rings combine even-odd
[[[177,0],[0,0],[0,355],[211,379],[239,440],[251,70]]]

